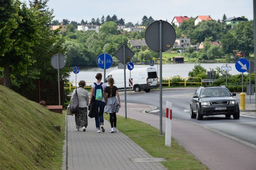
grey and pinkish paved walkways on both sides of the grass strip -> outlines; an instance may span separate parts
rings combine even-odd
[[[145,113],[154,107],[128,103],[126,108],[127,118],[159,129],[159,116]],[[125,116],[124,107],[120,108],[118,115]],[[76,131],[74,116],[66,118],[63,170],[166,169],[160,162],[150,162],[154,158],[122,132],[109,133],[111,127],[107,120],[104,120],[106,131],[97,133],[94,118],[88,117],[86,132]],[[165,127],[164,117],[162,127]],[[162,129],[164,132],[165,128]],[[235,140],[224,133],[197,123],[172,119],[172,137],[210,170],[256,169],[256,146]],[[134,158],[140,158],[141,161],[132,162]]]

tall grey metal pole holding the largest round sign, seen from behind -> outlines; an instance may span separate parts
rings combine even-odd
[[[159,58],[160,58],[160,135],[162,135],[162,20],[159,21]]]

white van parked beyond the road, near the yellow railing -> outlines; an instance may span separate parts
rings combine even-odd
[[[113,70],[106,76],[106,84],[108,85],[108,78],[114,78],[115,86],[118,90],[124,90],[124,70]],[[158,77],[156,68],[134,68],[131,71],[126,69],[126,89],[130,89],[129,78],[132,78],[131,89],[135,92],[144,90],[150,92],[151,88],[158,88]]]

